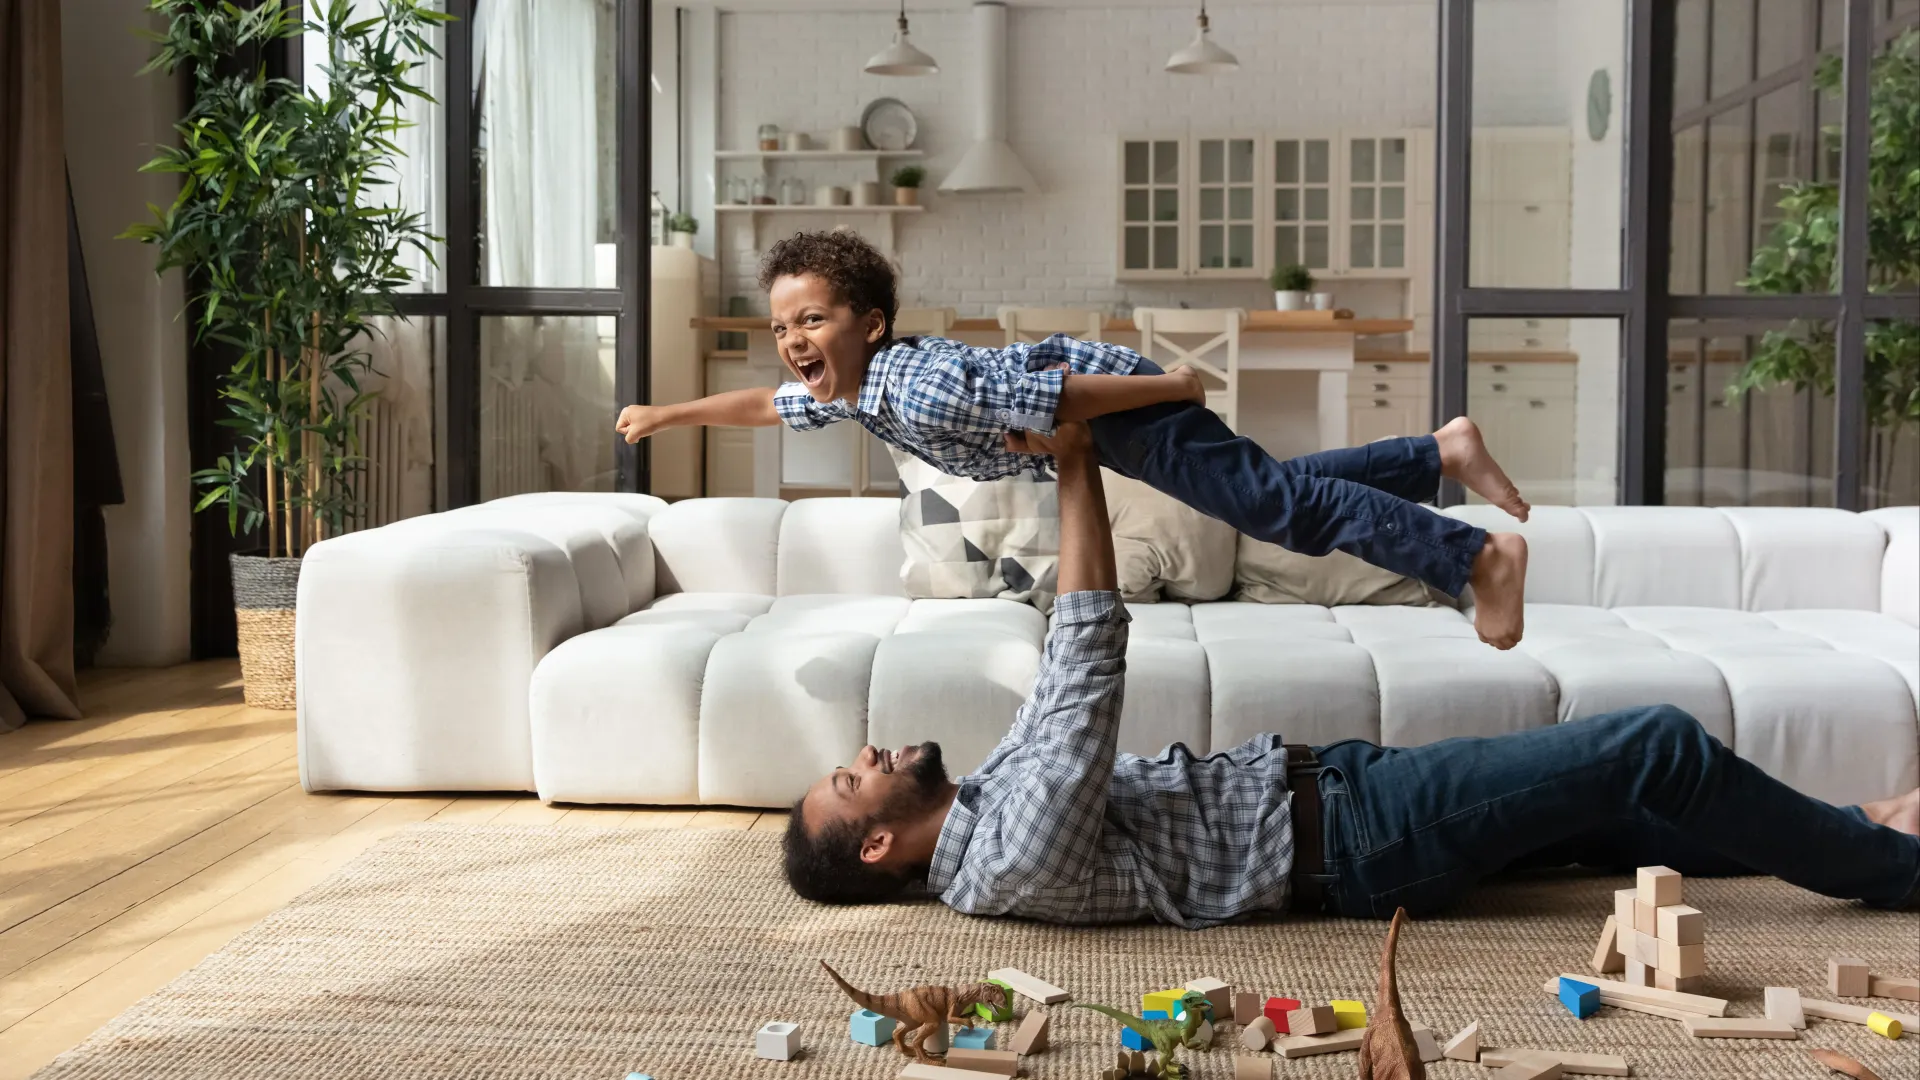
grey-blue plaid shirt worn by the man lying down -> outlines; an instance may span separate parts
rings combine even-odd
[[[1194,757],[1116,753],[1127,607],[1054,605],[1033,696],[960,778],[927,890],[968,915],[1213,926],[1286,911],[1294,865],[1286,751],[1263,734]]]

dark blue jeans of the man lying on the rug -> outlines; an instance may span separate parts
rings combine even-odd
[[[1672,705],[1498,738],[1317,751],[1329,911],[1432,911],[1503,869],[1772,874],[1910,905],[1920,836],[1774,780]]]

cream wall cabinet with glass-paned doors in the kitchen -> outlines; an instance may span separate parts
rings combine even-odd
[[[1129,136],[1119,281],[1411,275],[1413,133]]]

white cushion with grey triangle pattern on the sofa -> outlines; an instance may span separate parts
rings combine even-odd
[[[1052,477],[970,480],[893,450],[900,475],[900,584],[914,600],[989,598],[1054,609],[1060,484]]]

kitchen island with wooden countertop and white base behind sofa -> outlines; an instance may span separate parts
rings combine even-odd
[[[1290,311],[1248,311],[1240,327],[1240,432],[1277,457],[1350,446],[1348,377],[1356,342],[1404,334],[1407,319],[1313,319]],[[745,354],[708,354],[707,392],[741,386],[776,386],[789,379],[774,350],[764,315],[708,315],[693,319],[697,331],[747,334]],[[1108,319],[1106,340],[1140,348],[1131,319]],[[950,336],[966,344],[1000,346],[1004,331],[995,319],[958,319]],[[726,363],[732,367],[716,367]],[[1223,363],[1223,361],[1221,361]],[[751,438],[751,494],[778,498],[789,490],[893,492],[893,461],[885,448],[854,425],[795,432],[756,429],[732,442],[708,438],[708,457],[730,448],[745,452]],[[714,475],[712,461],[708,477]],[[745,477],[741,477],[745,480]],[[745,494],[749,484],[708,484],[708,494]]]

